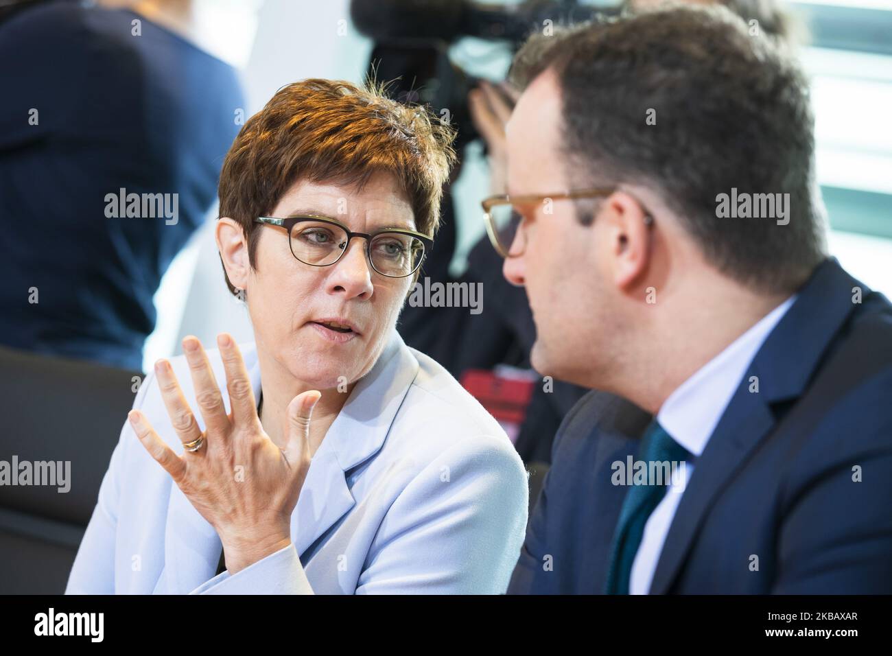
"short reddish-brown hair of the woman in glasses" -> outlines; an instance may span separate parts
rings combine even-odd
[[[385,87],[305,79],[279,89],[244,124],[220,172],[219,214],[244,230],[252,266],[260,228],[254,219],[273,212],[298,180],[361,188],[376,173],[389,173],[417,230],[434,237],[455,162],[455,130],[423,106],[391,100]],[[236,294],[228,277],[227,286]]]

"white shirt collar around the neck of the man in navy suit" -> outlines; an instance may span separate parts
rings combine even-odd
[[[766,314],[676,387],[660,407],[660,426],[695,458],[706,448],[749,363],[795,300],[792,295]]]

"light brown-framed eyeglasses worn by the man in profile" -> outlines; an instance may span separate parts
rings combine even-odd
[[[616,187],[592,187],[589,189],[562,191],[557,194],[492,195],[483,199],[483,202],[480,203],[483,205],[483,220],[486,225],[486,234],[490,237],[492,247],[502,257],[516,257],[523,254],[526,247],[526,243],[523,240],[516,240],[515,238],[521,220],[520,212],[517,212],[515,209],[516,206],[538,205],[565,199],[606,198],[617,190]],[[653,217],[646,209],[645,212],[644,220],[648,225],[651,225],[654,222]]]

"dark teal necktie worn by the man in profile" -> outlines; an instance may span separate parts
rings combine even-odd
[[[673,440],[656,419],[641,438],[638,450],[638,460],[645,462],[648,471],[653,461],[679,463],[689,456],[690,453]],[[631,486],[626,493],[619,521],[616,522],[605,594],[629,594],[632,562],[644,535],[644,525],[650,513],[663,500],[670,483],[671,480],[664,480],[663,485],[656,485],[656,481],[648,480],[648,485]]]

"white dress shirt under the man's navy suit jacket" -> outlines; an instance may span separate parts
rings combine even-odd
[[[795,295],[790,296],[766,314],[722,353],[681,383],[660,407],[657,421],[678,444],[688,450],[691,460],[696,461],[703,453],[750,362],[795,300]],[[681,494],[694,473],[691,461],[686,463],[683,473],[684,476],[679,477],[677,483],[673,479],[673,485],[644,526],[644,535],[632,562],[630,594],[647,594],[650,590],[666,534],[681,502]]]

